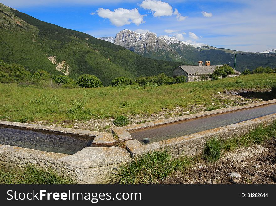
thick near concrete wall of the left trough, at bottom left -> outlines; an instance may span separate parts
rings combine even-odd
[[[130,153],[119,146],[86,147],[74,155],[67,155],[0,145],[0,165],[3,168],[17,170],[34,165],[71,177],[80,184],[109,183],[119,167],[131,160]]]

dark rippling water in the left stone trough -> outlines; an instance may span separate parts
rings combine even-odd
[[[90,146],[93,139],[93,136],[77,136],[0,126],[0,144],[47,152],[72,155],[82,148]]]

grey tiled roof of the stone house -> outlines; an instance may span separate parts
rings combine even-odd
[[[183,69],[188,74],[209,74],[213,73],[215,71],[216,67],[220,67],[223,65],[211,65],[211,66],[193,66],[193,65],[181,65],[179,66],[181,69]],[[239,71],[234,70],[235,74],[240,74]]]

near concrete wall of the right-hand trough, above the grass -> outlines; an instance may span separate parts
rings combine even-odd
[[[126,141],[126,148],[132,157],[162,148],[169,148],[173,156],[193,156],[203,151],[204,144],[211,137],[220,136],[227,139],[234,136],[241,136],[259,124],[272,124],[275,119],[276,113],[236,124],[230,124],[221,128],[209,129],[191,135],[153,142],[148,145],[142,145],[138,140],[129,140]]]

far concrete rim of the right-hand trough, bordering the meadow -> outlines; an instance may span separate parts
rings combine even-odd
[[[273,104],[273,103],[276,103],[276,99],[247,104],[247,105],[243,105],[243,106],[222,108],[222,109],[216,109],[216,110],[212,110],[212,111],[200,112],[200,113],[196,113],[196,114],[189,114],[189,115],[180,116],[180,117],[160,119],[160,120],[150,121],[150,122],[141,123],[141,124],[131,124],[131,125],[127,125],[124,127],[116,127],[116,128],[112,129],[112,132],[116,133],[116,135],[119,137],[119,140],[126,141],[126,140],[132,139],[130,133],[128,132],[130,130],[144,129],[144,128],[157,126],[157,125],[161,125],[161,124],[169,124],[169,123],[174,123],[174,122],[188,120],[188,119],[189,120],[196,119],[196,118],[205,117],[205,116],[209,116],[209,115],[238,111],[241,109],[252,108],[252,107]]]

